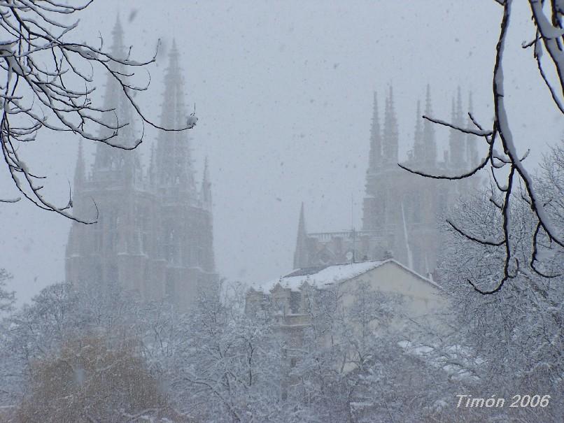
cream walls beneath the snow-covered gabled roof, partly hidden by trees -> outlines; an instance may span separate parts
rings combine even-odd
[[[446,306],[446,297],[437,285],[425,280],[414,272],[404,268],[395,261],[386,261],[380,266],[373,268],[362,275],[354,278],[336,282],[331,285],[317,283],[316,285],[302,284],[299,289],[290,289],[284,286],[283,278],[279,283],[267,288],[267,292],[260,289],[249,289],[246,296],[246,313],[269,313],[275,322],[275,331],[283,340],[285,357],[283,365],[288,368],[295,366],[302,357],[304,336],[306,330],[311,327],[312,317],[320,310],[316,303],[318,292],[316,289],[331,290],[339,298],[337,303],[337,318],[350,316],[349,311],[357,299],[360,284],[372,292],[379,292],[381,301],[390,301],[382,304],[382,308],[392,308],[392,316],[388,323],[379,320],[372,322],[371,336],[381,336],[389,331],[409,334],[410,329],[419,325],[435,331],[443,331],[439,315]],[[365,292],[365,291],[363,291]],[[292,294],[294,297],[292,298]],[[297,294],[297,296],[296,296]],[[396,305],[397,301],[397,305]],[[372,304],[379,308],[378,304]],[[356,323],[345,322],[347,333],[350,331],[361,331]],[[348,337],[348,335],[347,335]],[[326,331],[318,338],[320,347],[331,347],[331,345],[343,343],[344,350],[349,345],[347,339],[339,339],[339,332]],[[351,351],[353,354],[353,351]],[[344,366],[344,371],[355,370],[353,361]],[[291,386],[295,380],[288,376],[286,385]]]

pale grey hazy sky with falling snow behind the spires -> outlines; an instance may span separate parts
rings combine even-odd
[[[450,117],[460,85],[465,103],[472,90],[479,120],[491,122],[501,13],[493,0],[96,0],[73,37],[95,42],[99,33],[107,45],[119,14],[134,57],[150,57],[157,38],[166,52],[176,38],[187,101],[199,117],[192,130],[198,176],[205,156],[211,166],[218,271],[255,282],[291,270],[302,201],[309,231],[360,227],[374,90],[383,106],[393,85],[402,152],[411,148],[416,101],[428,83],[435,116]],[[532,51],[521,48],[534,36],[529,15],[526,2],[516,2],[505,76],[517,144],[532,148],[532,166],[561,138],[563,122]],[[150,69],[150,91],[137,96],[155,120],[166,57]],[[76,145],[45,132],[24,150],[61,202]],[[144,155],[148,146],[140,147]],[[89,162],[93,150],[86,146]],[[14,194],[1,169],[0,196]],[[0,218],[0,267],[15,276],[20,301],[63,280],[68,220],[26,201],[0,203]]]

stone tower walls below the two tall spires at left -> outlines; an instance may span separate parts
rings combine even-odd
[[[138,187],[97,189],[86,183],[76,202],[90,197],[99,208],[98,222],[73,223],[67,281],[100,289],[117,284],[146,301],[169,298],[182,309],[200,287],[217,282],[209,210],[162,210],[157,194]]]

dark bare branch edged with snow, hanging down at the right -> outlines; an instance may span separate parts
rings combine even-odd
[[[509,120],[505,107],[505,80],[503,74],[504,50],[507,43],[507,28],[509,27],[513,0],[496,1],[503,6],[503,15],[500,25],[500,35],[495,48],[496,54],[492,80],[494,119],[491,131],[483,129],[470,114],[470,120],[472,120],[474,125],[478,128],[477,130],[459,127],[458,125],[451,124],[449,122],[423,116],[424,119],[434,122],[435,124],[450,127],[465,134],[483,136],[488,145],[488,155],[474,169],[458,175],[432,175],[423,171],[415,171],[399,164],[402,169],[421,175],[425,178],[444,180],[460,180],[468,178],[477,173],[480,169],[484,169],[489,165],[493,182],[495,182],[495,188],[493,187],[493,190],[497,189],[497,192],[500,193],[499,198],[498,196],[492,194],[489,201],[491,201],[501,212],[503,240],[492,241],[471,236],[467,234],[466,231],[460,229],[460,227],[455,226],[451,221],[449,221],[451,227],[453,227],[458,234],[465,236],[475,243],[482,245],[504,246],[505,259],[503,264],[503,275],[493,289],[481,289],[472,280],[468,280],[470,285],[472,285],[477,292],[486,295],[499,292],[507,280],[515,278],[519,271],[524,271],[524,269],[519,267],[519,259],[514,257],[514,245],[509,231],[511,208],[514,201],[519,199],[525,201],[530,208],[530,213],[532,213],[535,221],[537,222],[536,230],[531,237],[532,248],[530,258],[528,260],[530,268],[535,273],[545,278],[553,277],[553,275],[540,270],[540,268],[536,265],[541,235],[548,238],[551,243],[559,245],[561,248],[564,247],[563,235],[560,231],[558,231],[558,229],[556,229],[556,227],[554,227],[551,215],[548,213],[546,208],[547,203],[544,203],[544,201],[540,199],[533,177],[528,173],[525,166],[523,166],[523,160],[528,156],[529,150],[524,155],[520,156],[514,143],[512,122]],[[531,43],[523,43],[522,46],[523,48],[528,48],[531,45],[535,46],[534,57],[537,62],[537,68],[539,69],[540,76],[544,84],[549,88],[556,107],[564,113],[564,102],[561,99],[561,97],[564,96],[564,29],[561,24],[563,10],[560,10],[558,7],[559,3],[556,0],[551,0],[552,16],[549,19],[542,7],[543,1],[529,0],[529,3],[531,11],[533,12],[533,22],[535,23],[537,31],[535,40]],[[558,92],[547,77],[547,74],[544,72],[541,62],[543,48],[549,52],[551,63],[554,64],[556,69],[559,86]],[[496,146],[498,148],[496,148]],[[498,149],[500,151],[498,151]],[[516,181],[519,181],[519,195],[514,195]]]

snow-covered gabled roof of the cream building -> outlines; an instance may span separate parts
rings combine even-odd
[[[386,264],[388,262],[394,263],[404,270],[413,273],[425,282],[428,282],[430,285],[440,288],[439,285],[437,285],[432,280],[419,275],[406,266],[403,266],[401,263],[398,263],[394,259],[298,268],[291,273],[288,273],[288,275],[281,276],[278,279],[269,280],[268,282],[263,283],[255,283],[251,285],[251,288],[255,289],[255,291],[268,293],[272,291],[272,289],[274,289],[276,285],[280,285],[282,288],[289,288],[292,291],[297,291],[305,282],[307,282],[309,285],[315,285],[316,287],[323,287],[324,285],[330,285],[332,283],[339,283],[344,282],[345,280],[350,280],[364,273],[367,273],[368,271],[372,271],[374,268],[382,266],[383,264]]]

